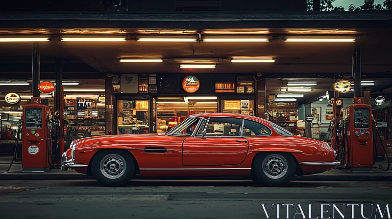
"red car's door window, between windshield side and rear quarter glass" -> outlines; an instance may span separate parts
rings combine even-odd
[[[242,119],[230,117],[211,117],[206,127],[206,137],[238,137],[241,136]]]

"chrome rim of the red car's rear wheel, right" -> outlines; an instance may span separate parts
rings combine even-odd
[[[287,160],[280,154],[270,154],[263,160],[263,172],[271,179],[280,179],[287,173]]]

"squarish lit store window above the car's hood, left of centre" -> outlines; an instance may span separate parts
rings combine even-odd
[[[118,100],[118,134],[148,133],[149,114],[147,100]]]

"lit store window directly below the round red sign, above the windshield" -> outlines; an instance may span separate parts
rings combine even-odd
[[[156,98],[156,130],[166,132],[190,115],[218,111],[216,96],[183,96]]]

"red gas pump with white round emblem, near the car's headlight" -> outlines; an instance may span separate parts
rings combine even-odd
[[[23,171],[49,171],[48,142],[50,109],[41,98],[31,98],[23,107],[22,168]]]

